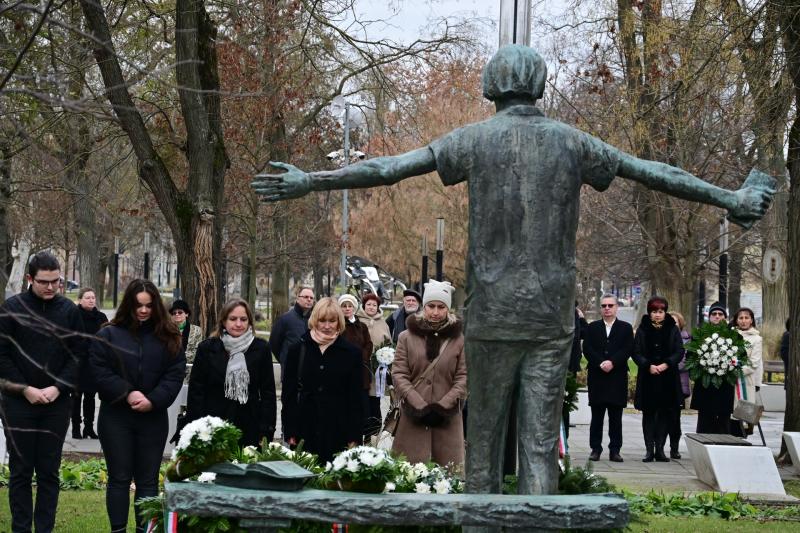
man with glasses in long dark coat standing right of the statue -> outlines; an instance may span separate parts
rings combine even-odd
[[[608,411],[609,459],[621,463],[622,409],[628,404],[628,358],[633,353],[633,328],[617,320],[617,297],[605,294],[600,299],[601,320],[586,329],[583,355],[589,369],[589,426],[591,461],[600,459],[603,451],[603,420]]]

